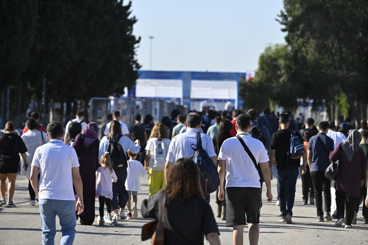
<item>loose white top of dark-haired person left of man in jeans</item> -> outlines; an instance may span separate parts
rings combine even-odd
[[[43,141],[42,141],[42,136],[43,136]],[[28,130],[22,135],[21,138],[28,150],[25,153],[28,164],[32,163],[33,155],[35,154],[36,149],[39,146],[50,141],[49,137],[47,137],[45,132],[38,131],[37,129]],[[23,168],[24,159],[22,157],[21,157],[21,161],[22,161],[21,171],[23,173],[24,172],[24,168]],[[29,179],[31,175],[31,166],[28,166],[27,171],[25,172],[25,175],[27,175],[27,178]]]

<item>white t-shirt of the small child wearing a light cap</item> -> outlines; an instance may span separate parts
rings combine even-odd
[[[127,170],[128,176],[125,181],[125,189],[127,191],[139,191],[139,175],[144,177],[147,174],[142,163],[137,160],[129,160]]]

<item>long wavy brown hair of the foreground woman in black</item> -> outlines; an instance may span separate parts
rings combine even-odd
[[[198,168],[190,158],[177,160],[170,171],[165,193],[170,193],[170,199],[185,201],[192,196],[204,199]]]

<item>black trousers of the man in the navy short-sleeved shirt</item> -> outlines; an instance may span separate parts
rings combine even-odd
[[[325,177],[323,171],[312,171],[311,178],[314,188],[314,199],[316,201],[317,216],[323,216],[322,191],[325,196],[325,212],[331,212],[331,181]]]

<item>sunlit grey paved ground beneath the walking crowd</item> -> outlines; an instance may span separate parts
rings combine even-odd
[[[274,175],[275,176],[275,175]],[[265,191],[265,188],[263,188]],[[272,180],[272,193],[276,199],[276,180]],[[353,229],[334,226],[335,221],[316,222],[316,207],[302,206],[301,180],[297,181],[296,201],[294,205],[293,224],[279,222],[279,207],[265,202],[261,210],[259,244],[368,244],[368,226],[362,224],[361,209],[357,225]],[[141,191],[138,195],[138,207],[143,199],[148,198],[147,178],[141,178]],[[97,199],[96,199],[97,200]],[[39,207],[29,206],[28,180],[18,175],[14,197],[16,208],[0,207],[0,244],[41,244]],[[212,210],[216,210],[215,195],[211,196]],[[96,201],[96,215],[98,214]],[[178,210],[180,212],[180,210]],[[139,214],[140,216],[140,214]],[[97,217],[97,216],[96,216]],[[141,241],[141,227],[149,220],[137,218],[119,221],[117,226],[81,226],[77,225],[74,244],[151,244],[150,240]],[[232,243],[232,230],[225,227],[224,221],[216,218],[222,244]],[[58,221],[57,221],[58,223]],[[78,223],[78,222],[77,222]],[[55,242],[59,244],[61,232]],[[244,231],[244,244],[249,244],[247,227]],[[190,235],[190,234],[188,234]],[[208,244],[208,242],[205,242]]]

